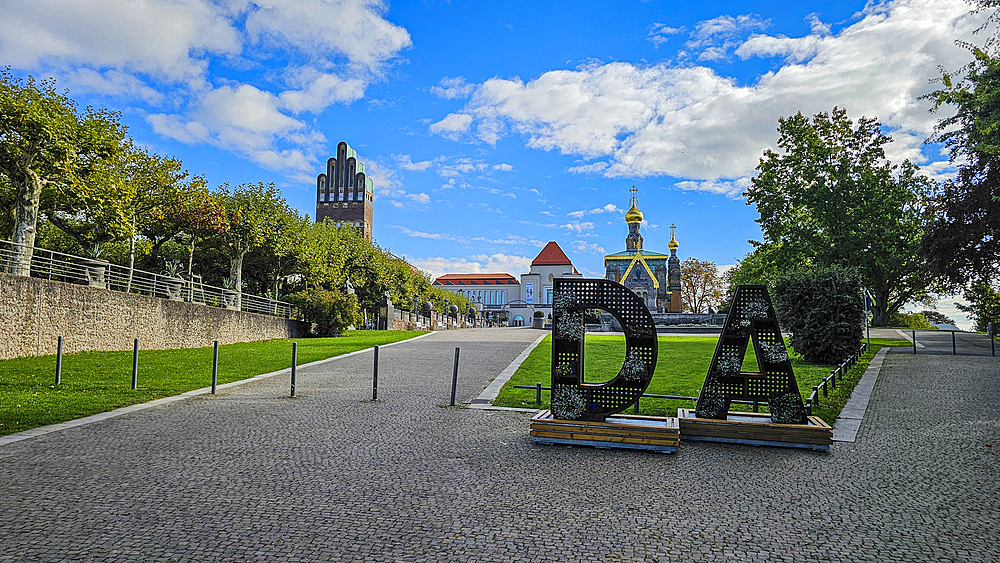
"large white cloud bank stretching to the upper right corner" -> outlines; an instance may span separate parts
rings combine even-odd
[[[895,0],[871,4],[859,17],[836,35],[815,23],[808,36],[815,54],[807,62],[785,64],[750,85],[708,67],[668,63],[588,63],[528,82],[493,78],[461,110],[474,118],[463,119],[462,130],[480,136],[485,126],[490,133],[480,140],[486,142],[510,130],[533,148],[610,163],[574,172],[713,180],[682,189],[732,194],[739,186],[729,179],[749,177],[762,152],[777,148],[779,117],[839,106],[852,118],[877,116],[890,129],[891,159],[925,162],[922,142],[939,116],[918,98],[935,87],[929,79],[938,76],[939,65],[954,69],[968,60],[955,41],[972,40],[984,16],[970,16],[962,0]],[[692,47],[764,25],[729,17],[703,23],[693,32]],[[781,51],[785,57],[795,52]]]

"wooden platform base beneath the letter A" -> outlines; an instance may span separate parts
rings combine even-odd
[[[818,416],[810,416],[809,424],[775,424],[767,413],[730,411],[728,420],[716,420],[698,418],[694,409],[677,409],[677,418],[685,441],[807,450],[829,450],[833,443],[833,427]]]

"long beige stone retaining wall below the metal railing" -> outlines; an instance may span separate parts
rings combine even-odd
[[[300,321],[0,273],[0,359],[308,335]]]

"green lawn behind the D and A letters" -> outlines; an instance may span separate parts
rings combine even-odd
[[[518,368],[510,381],[501,389],[496,400],[493,401],[494,405],[528,408],[536,406],[534,389],[514,389],[513,386],[535,385],[536,382],[541,382],[543,387],[549,386],[549,369],[552,356],[551,338],[551,336],[546,337],[525,358],[524,363],[521,364],[521,367]],[[656,361],[656,371],[653,373],[653,380],[649,384],[649,388],[646,389],[646,393],[697,397],[701,392],[702,384],[705,382],[708,367],[712,363],[712,355],[715,353],[717,342],[717,337],[661,336],[659,339],[659,355]],[[625,358],[624,336],[588,334],[585,346],[584,381],[599,383],[607,381],[618,373]],[[874,339],[872,340],[872,348],[877,350]],[[802,393],[803,399],[812,393],[813,385],[818,385],[824,377],[830,375],[830,370],[835,367],[807,364],[791,348],[789,348],[789,356],[792,360],[792,369],[795,372],[795,379],[799,384],[799,390]],[[865,362],[865,365],[867,365],[867,362]],[[746,371],[757,369],[757,359],[754,357],[752,347],[747,350],[743,369]],[[860,375],[858,378],[860,379]],[[853,388],[853,385],[851,388]],[[549,393],[542,391],[541,408],[548,408],[548,401]],[[834,399],[830,398],[827,402],[833,405],[833,401]],[[846,402],[846,399],[844,401]],[[824,405],[824,412],[819,412],[819,409],[817,409],[817,412],[814,412],[814,414],[823,416],[825,420],[826,416],[831,416],[831,412],[822,401],[821,404]],[[677,416],[678,407],[693,408],[694,402],[644,399],[639,404],[639,413],[652,416]],[[751,407],[749,405],[733,405],[732,408],[733,410],[750,410]],[[831,420],[836,419],[839,412],[840,408],[838,407],[836,413],[832,413]]]

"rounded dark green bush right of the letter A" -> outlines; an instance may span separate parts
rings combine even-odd
[[[785,274],[774,285],[782,328],[807,362],[836,364],[857,352],[865,304],[858,275],[842,268]]]

